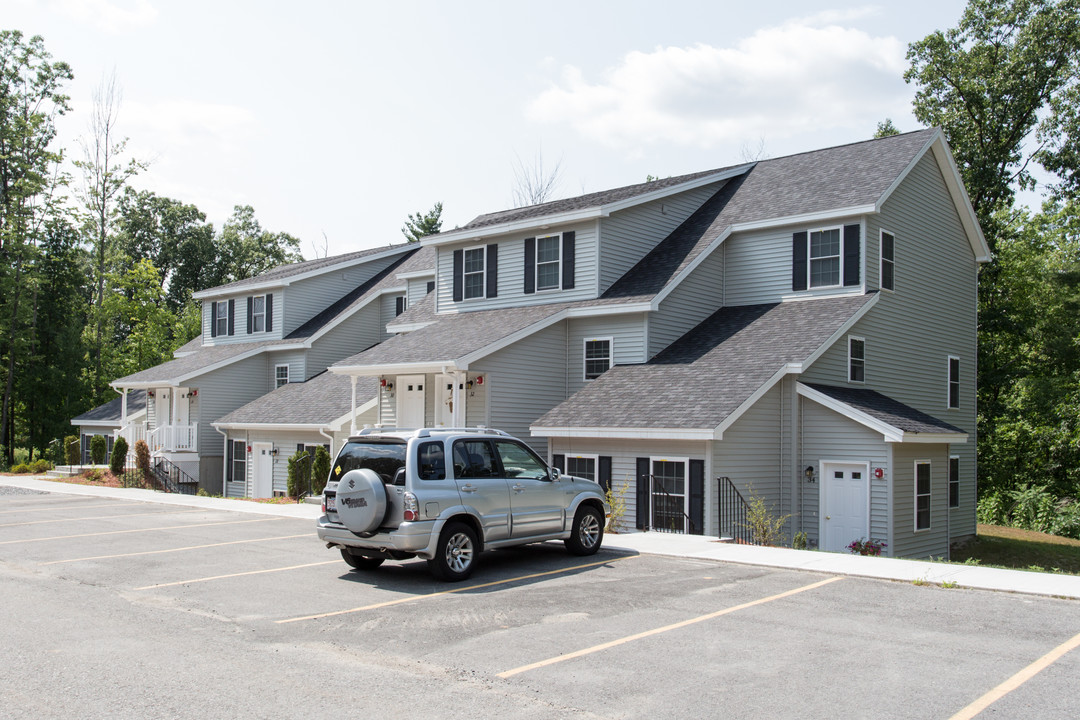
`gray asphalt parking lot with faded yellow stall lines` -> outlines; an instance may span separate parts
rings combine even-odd
[[[447,585],[310,520],[0,494],[0,607],[3,718],[1080,716],[1075,600],[559,543]]]

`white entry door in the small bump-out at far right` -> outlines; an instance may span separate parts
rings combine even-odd
[[[826,462],[821,478],[821,546],[846,553],[852,541],[869,539],[869,465]]]

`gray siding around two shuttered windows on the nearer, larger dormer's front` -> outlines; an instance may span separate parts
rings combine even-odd
[[[548,230],[514,233],[507,239],[477,243],[459,243],[438,248],[435,261],[437,280],[435,293],[441,313],[492,310],[495,308],[521,307],[589,300],[596,297],[596,228],[597,222],[561,226]],[[569,290],[541,290],[525,294],[525,239],[553,235],[568,230],[575,231],[575,282]],[[454,302],[454,250],[499,245],[499,294],[496,298],[474,298]]]

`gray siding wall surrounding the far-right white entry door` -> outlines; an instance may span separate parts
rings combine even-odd
[[[812,465],[815,473],[814,483],[808,483],[799,477],[802,490],[800,505],[796,508],[801,522],[800,528],[807,533],[811,546],[816,546],[821,540],[821,517],[819,515],[821,486],[827,478],[821,476],[822,462],[867,463],[870,467],[869,501],[870,538],[889,539],[889,447],[880,433],[875,433],[843,416],[829,410],[813,400],[799,400],[799,429],[801,444],[801,460],[799,465]],[[874,468],[881,467],[885,477],[874,478]],[[859,540],[852,538],[852,540]],[[892,554],[892,543],[889,543]]]

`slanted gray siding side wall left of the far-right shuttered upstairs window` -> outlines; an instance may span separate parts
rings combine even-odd
[[[724,261],[721,245],[649,315],[650,358],[723,307]]]

